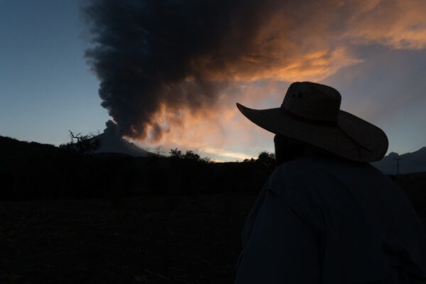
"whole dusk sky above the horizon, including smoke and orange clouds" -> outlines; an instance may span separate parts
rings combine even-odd
[[[279,107],[312,81],[388,153],[426,146],[425,1],[212,2],[0,0],[0,135],[59,145],[114,117],[148,150],[243,160],[273,134],[235,103]]]

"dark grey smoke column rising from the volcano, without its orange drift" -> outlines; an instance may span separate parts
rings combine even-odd
[[[214,106],[230,79],[227,66],[249,40],[239,28],[256,27],[249,2],[111,0],[84,8],[95,44],[85,56],[122,135],[158,141],[170,131],[168,121],[153,119],[161,107],[177,113]]]

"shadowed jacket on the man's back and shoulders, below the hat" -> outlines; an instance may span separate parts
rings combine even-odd
[[[241,234],[236,284],[426,283],[426,233],[367,163],[310,155],[268,178]]]

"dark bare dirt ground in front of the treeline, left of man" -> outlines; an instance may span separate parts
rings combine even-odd
[[[233,283],[255,200],[0,202],[0,283]]]

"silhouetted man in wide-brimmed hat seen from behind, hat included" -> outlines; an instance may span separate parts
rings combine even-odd
[[[403,191],[368,162],[386,134],[340,110],[336,89],[290,85],[244,116],[275,133],[278,168],[241,234],[236,284],[426,283],[426,234]]]

